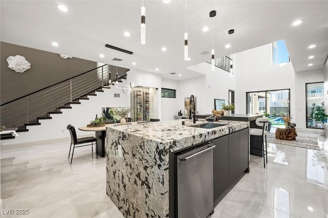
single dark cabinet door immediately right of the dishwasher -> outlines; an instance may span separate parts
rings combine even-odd
[[[217,205],[220,195],[229,187],[229,137],[215,139],[213,144],[213,195],[214,205]]]

